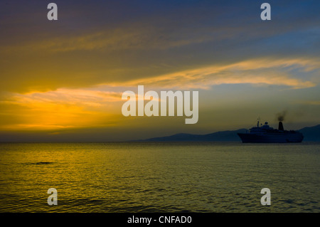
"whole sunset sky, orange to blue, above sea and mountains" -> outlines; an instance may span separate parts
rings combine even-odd
[[[47,6],[58,6],[48,21]],[[262,3],[271,21],[262,21]],[[320,124],[320,1],[1,1],[0,142],[108,142]],[[124,117],[198,91],[198,122]]]

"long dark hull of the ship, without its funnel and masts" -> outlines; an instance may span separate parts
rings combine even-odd
[[[287,143],[287,142],[302,142],[303,135],[299,132],[294,133],[238,133],[238,136],[243,143]]]

